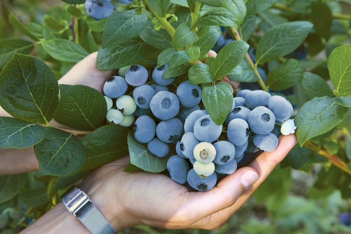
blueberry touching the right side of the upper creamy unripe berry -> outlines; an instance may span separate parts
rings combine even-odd
[[[213,160],[218,165],[230,162],[235,157],[235,147],[229,141],[218,141],[213,144],[216,149],[216,158]]]

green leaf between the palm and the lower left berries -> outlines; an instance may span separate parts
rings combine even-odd
[[[151,154],[145,144],[135,140],[132,132],[128,133],[127,141],[132,165],[153,173],[162,172],[167,168],[168,158],[159,158]]]

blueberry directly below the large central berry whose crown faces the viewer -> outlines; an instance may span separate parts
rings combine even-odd
[[[156,127],[157,137],[166,143],[178,141],[183,134],[183,123],[177,119],[161,121]]]

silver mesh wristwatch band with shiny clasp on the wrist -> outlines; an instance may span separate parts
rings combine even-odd
[[[92,234],[116,233],[111,224],[91,203],[89,197],[79,188],[74,187],[62,198],[62,202]]]

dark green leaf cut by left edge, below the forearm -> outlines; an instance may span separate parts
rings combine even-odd
[[[19,194],[27,181],[27,174],[0,176],[0,204]]]

